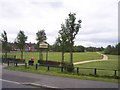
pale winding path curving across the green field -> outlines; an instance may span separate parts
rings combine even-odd
[[[100,55],[102,55],[103,58],[100,59],[100,60],[87,60],[87,61],[75,62],[74,65],[108,60],[108,56],[107,55],[104,55],[104,54],[99,53],[99,52],[97,52],[97,53],[100,54]]]

